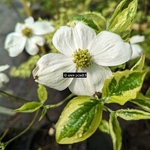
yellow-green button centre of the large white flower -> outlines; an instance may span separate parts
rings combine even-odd
[[[84,69],[92,64],[92,56],[88,49],[78,49],[73,54],[73,62],[76,63],[76,68]]]

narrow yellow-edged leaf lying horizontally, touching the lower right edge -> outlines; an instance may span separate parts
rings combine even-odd
[[[116,115],[124,120],[150,119],[150,113],[137,109],[120,109]]]

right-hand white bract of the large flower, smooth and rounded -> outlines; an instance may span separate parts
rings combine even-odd
[[[90,45],[95,63],[102,66],[121,65],[131,58],[132,50],[129,43],[124,42],[117,34],[102,31]]]

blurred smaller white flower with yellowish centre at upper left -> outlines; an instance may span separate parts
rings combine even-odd
[[[24,48],[30,55],[37,54],[39,51],[37,45],[45,44],[43,35],[54,31],[54,27],[48,21],[34,22],[32,17],[28,17],[24,22],[17,23],[15,32],[6,36],[4,46],[10,57],[18,56]]]

